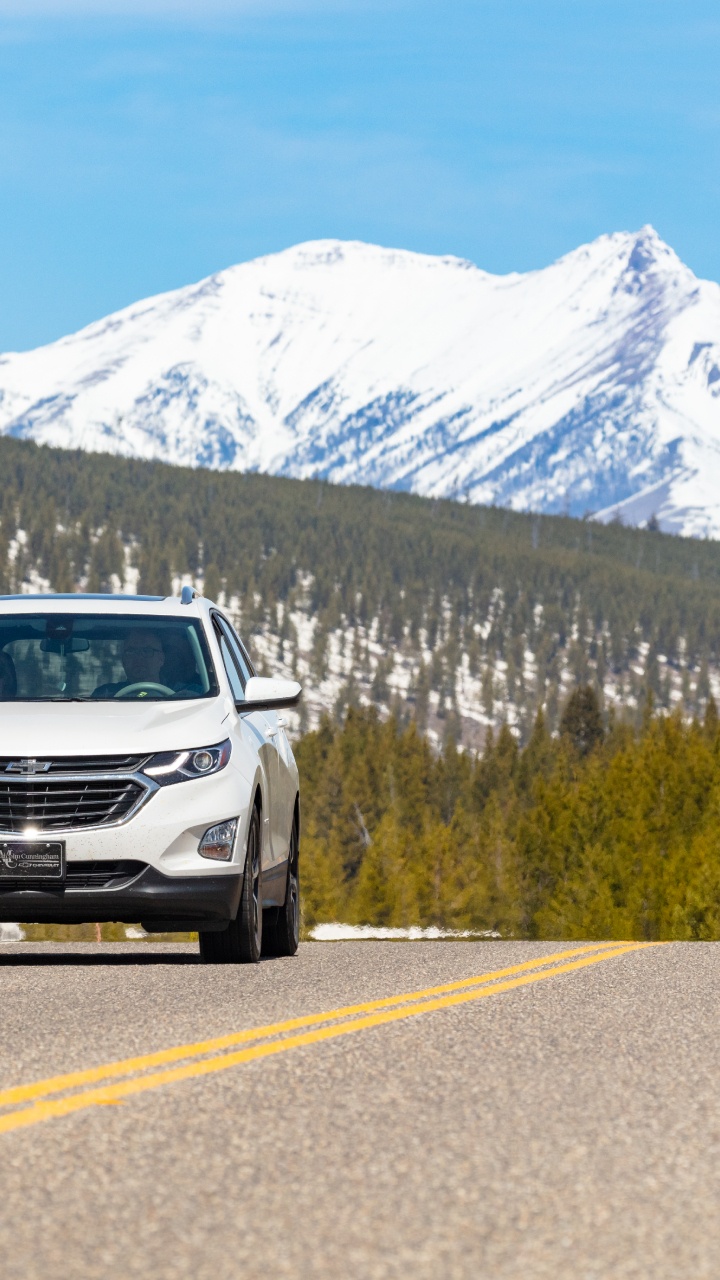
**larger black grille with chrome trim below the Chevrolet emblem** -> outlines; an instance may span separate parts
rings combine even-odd
[[[0,831],[65,831],[122,822],[146,794],[133,778],[0,774]]]

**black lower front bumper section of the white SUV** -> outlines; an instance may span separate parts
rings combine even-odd
[[[0,888],[0,920],[85,924],[117,920],[149,932],[215,931],[237,915],[242,872],[164,876],[146,865],[111,888]]]

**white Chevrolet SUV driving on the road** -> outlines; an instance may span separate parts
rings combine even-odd
[[[213,963],[292,955],[300,800],[228,620],[182,596],[0,598],[0,920],[197,929]]]

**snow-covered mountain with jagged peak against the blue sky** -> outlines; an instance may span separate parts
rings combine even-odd
[[[1,356],[0,431],[720,535],[720,285],[650,227],[503,276],[299,244]]]

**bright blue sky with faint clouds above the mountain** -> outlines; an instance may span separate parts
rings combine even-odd
[[[717,0],[0,0],[0,349],[328,236],[720,279],[719,67]]]

